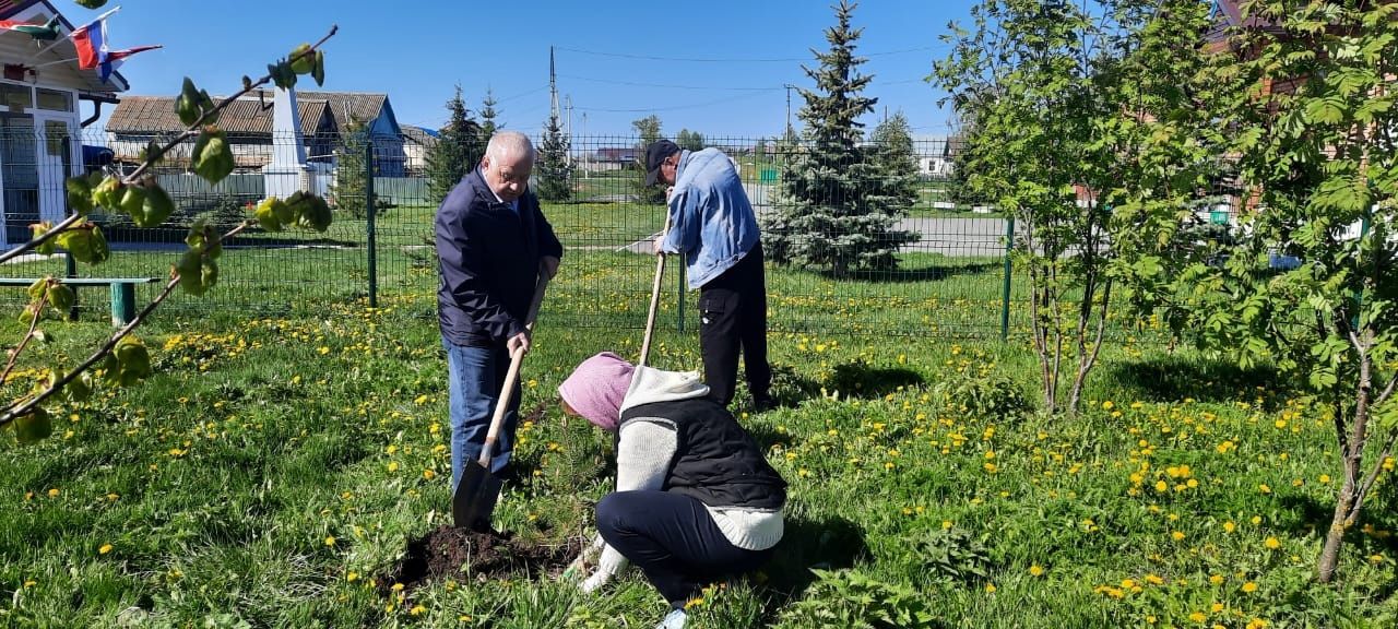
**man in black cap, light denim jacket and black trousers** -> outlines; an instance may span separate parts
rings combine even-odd
[[[699,351],[710,396],[723,405],[733,401],[741,351],[754,407],[770,408],[762,240],[738,171],[717,148],[681,151],[670,140],[646,147],[646,169],[647,186],[671,186],[670,232],[656,253],[682,253],[689,288],[699,289]]]

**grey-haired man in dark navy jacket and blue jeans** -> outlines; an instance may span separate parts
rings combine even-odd
[[[442,282],[438,316],[446,348],[452,414],[452,491],[466,461],[485,447],[495,401],[514,349],[528,351],[524,327],[538,274],[558,273],[563,246],[528,190],[534,145],[517,131],[491,137],[477,169],[442,201],[436,249]],[[510,460],[519,424],[519,384],[505,415],[491,471]]]

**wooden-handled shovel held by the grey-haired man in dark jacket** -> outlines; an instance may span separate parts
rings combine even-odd
[[[544,302],[544,289],[548,288],[548,275],[540,274],[534,285],[534,302],[528,306],[528,316],[524,317],[524,327],[534,328],[534,317],[538,306]],[[491,417],[491,428],[485,433],[485,446],[481,449],[481,458],[466,464],[461,470],[461,482],[456,485],[452,496],[452,519],[457,528],[468,527],[477,533],[491,530],[491,514],[495,513],[495,502],[500,496],[500,478],[491,471],[491,457],[495,456],[495,440],[500,435],[500,424],[505,424],[505,412],[510,408],[510,398],[514,397],[514,380],[520,375],[520,363],[524,362],[524,351],[516,349],[510,355],[510,368],[505,372],[505,389],[495,401],[495,414]]]

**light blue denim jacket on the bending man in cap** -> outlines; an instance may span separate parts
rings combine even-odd
[[[681,152],[661,250],[685,254],[689,288],[733,268],[758,239],[758,218],[728,155],[717,148]]]

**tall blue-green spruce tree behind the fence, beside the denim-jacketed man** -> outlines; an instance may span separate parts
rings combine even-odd
[[[805,105],[805,150],[783,168],[781,200],[763,219],[763,243],[773,260],[826,268],[835,275],[854,270],[886,270],[898,264],[899,246],[913,235],[893,229],[898,200],[889,196],[884,173],[858,147],[863,123],[877,99],[861,92],[872,75],[860,75],[864,59],[854,56],[863,29],[850,27],[856,8],[849,0],[835,6],[836,25],[825,31],[829,52],[816,53],[819,67],[802,66],[815,89],[798,88]]]

